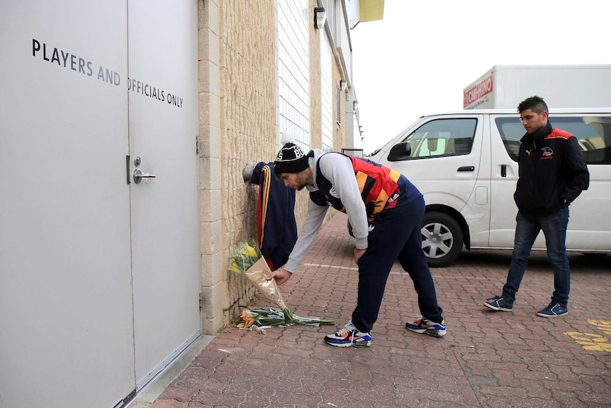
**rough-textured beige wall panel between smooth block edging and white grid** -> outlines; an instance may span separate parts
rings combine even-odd
[[[245,165],[269,162],[276,150],[275,1],[222,1],[220,13],[220,127],[224,258],[257,238],[257,186],[244,182]],[[254,289],[224,272],[223,311],[229,319]],[[227,320],[228,321],[228,320]]]

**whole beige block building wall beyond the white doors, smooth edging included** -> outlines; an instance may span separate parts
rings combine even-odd
[[[310,10],[315,5],[310,0]],[[279,148],[275,13],[276,0],[198,2],[202,321],[207,334],[232,323],[256,294],[226,267],[240,243],[257,237],[258,187],[244,182],[242,169],[273,161]],[[310,126],[316,148],[321,145],[319,48],[319,33],[311,24]],[[334,79],[340,80],[335,60]],[[335,133],[340,150],[345,131],[337,127]],[[306,192],[297,196],[301,229],[308,197]]]

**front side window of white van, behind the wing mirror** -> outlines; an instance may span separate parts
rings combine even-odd
[[[401,141],[410,143],[410,158],[466,155],[471,153],[476,127],[476,118],[437,119]]]

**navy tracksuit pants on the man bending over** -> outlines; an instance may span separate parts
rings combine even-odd
[[[396,260],[413,280],[422,316],[437,323],[443,319],[435,283],[422,252],[420,224],[425,200],[419,197],[397,204],[371,221],[368,248],[359,259],[357,307],[352,312],[352,324],[359,331],[371,331],[378,319],[386,280]]]

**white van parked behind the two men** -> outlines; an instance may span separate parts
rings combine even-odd
[[[517,153],[515,110],[422,116],[367,158],[397,170],[424,194],[422,250],[431,267],[467,249],[512,249]],[[611,109],[551,109],[551,126],[577,136],[590,187],[571,204],[566,249],[611,252]],[[545,249],[543,233],[533,249]]]

